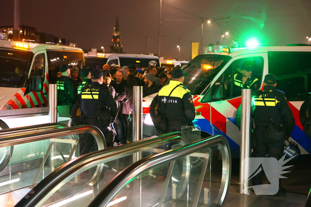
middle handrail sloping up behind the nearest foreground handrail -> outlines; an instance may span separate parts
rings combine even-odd
[[[180,132],[167,133],[77,157],[50,173],[21,199],[15,207],[41,206],[45,202],[45,198],[49,198],[63,184],[87,169],[178,140],[184,142]]]

